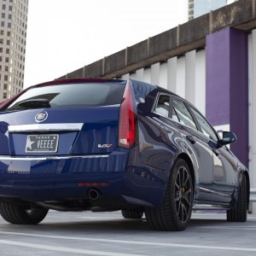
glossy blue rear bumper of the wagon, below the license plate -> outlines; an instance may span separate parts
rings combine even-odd
[[[109,183],[108,187],[101,188],[104,195],[120,195],[126,162],[127,154],[119,152],[74,156],[0,156],[0,196],[28,201],[87,199],[91,188],[81,186],[81,183],[99,182]]]

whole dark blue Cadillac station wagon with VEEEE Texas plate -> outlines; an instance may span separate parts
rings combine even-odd
[[[38,224],[49,209],[121,210],[155,230],[184,230],[193,208],[216,207],[246,221],[247,168],[226,146],[235,141],[153,84],[38,84],[0,105],[0,212]]]

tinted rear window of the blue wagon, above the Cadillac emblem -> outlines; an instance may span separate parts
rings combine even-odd
[[[40,105],[40,101],[49,103],[49,108],[115,105],[122,102],[124,90],[125,84],[110,83],[61,84],[35,87],[18,97],[6,110],[22,110],[33,108],[33,106],[38,108],[37,104]],[[30,102],[31,104],[24,105],[22,102]]]

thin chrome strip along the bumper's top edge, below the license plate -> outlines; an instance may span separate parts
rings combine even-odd
[[[15,157],[0,155],[1,160],[68,160],[68,159],[86,159],[86,158],[108,158],[108,154],[88,154],[88,155],[69,155],[69,156],[29,156],[29,157]]]

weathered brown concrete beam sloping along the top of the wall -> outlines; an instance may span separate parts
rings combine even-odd
[[[255,0],[239,0],[81,68],[84,77],[93,78],[116,78],[135,73],[142,67],[204,48],[206,36],[225,27],[244,31],[256,27]],[[80,74],[79,68],[61,78],[79,77]]]

